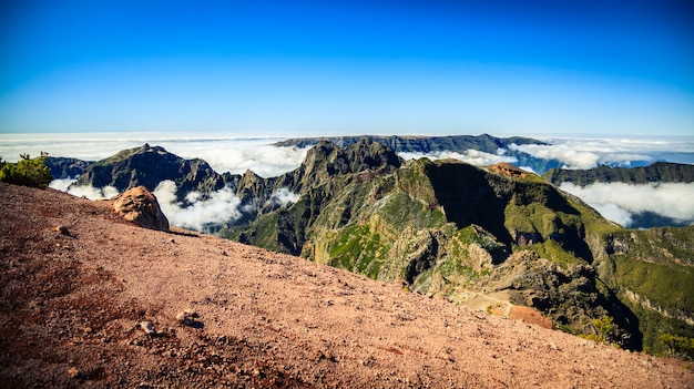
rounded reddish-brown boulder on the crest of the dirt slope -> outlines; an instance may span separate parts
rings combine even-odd
[[[162,213],[156,197],[144,186],[134,187],[115,197],[113,211],[141,227],[169,231],[169,219]]]

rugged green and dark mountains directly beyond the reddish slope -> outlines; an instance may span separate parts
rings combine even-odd
[[[154,191],[165,180],[183,207],[232,191],[241,216],[208,226],[223,237],[488,311],[533,307],[557,328],[623,348],[694,357],[694,227],[624,229],[513,165],[404,161],[365,137],[319,141],[297,170],[263,178],[145,144],[89,164],[78,183]]]

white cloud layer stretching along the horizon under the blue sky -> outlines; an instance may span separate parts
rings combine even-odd
[[[632,161],[670,161],[694,163],[694,137],[557,137],[541,139],[549,145],[514,145],[512,149],[537,157],[562,161],[569,168],[591,168],[600,164],[626,165]],[[41,151],[52,156],[86,161],[109,157],[121,150],[144,143],[160,145],[184,158],[207,161],[218,173],[243,174],[252,170],[262,177],[278,176],[297,168],[307,149],[275,147],[283,137],[239,139],[222,133],[74,133],[74,134],[0,134],[0,156],[9,162],[22,153],[32,156]],[[478,151],[465,153],[401,153],[405,158],[427,156],[431,160],[453,157],[476,165],[498,162],[516,163],[502,154]]]

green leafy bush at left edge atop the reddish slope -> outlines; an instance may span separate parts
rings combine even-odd
[[[51,170],[45,166],[48,153],[31,158],[29,154],[20,154],[21,160],[17,163],[0,160],[0,182],[39,187],[44,190],[53,181]]]

